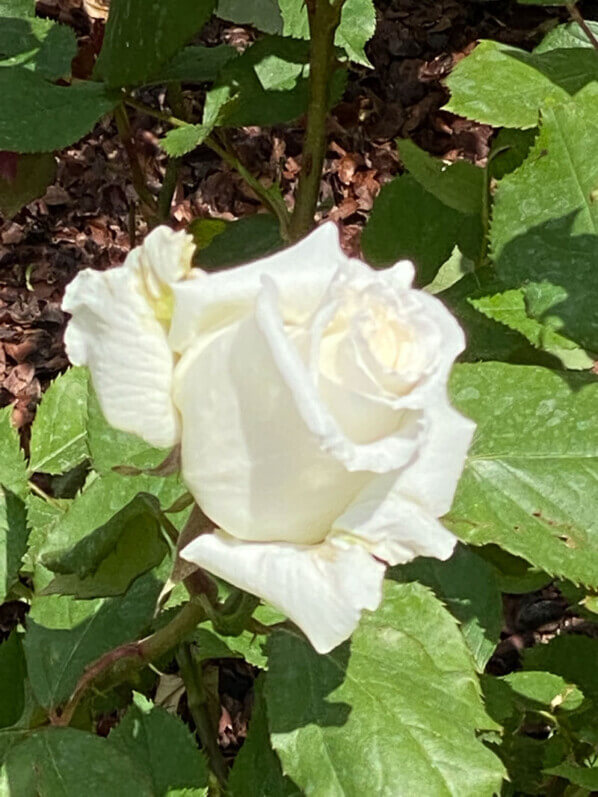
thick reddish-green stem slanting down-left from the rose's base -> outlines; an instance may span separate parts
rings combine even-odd
[[[169,623],[151,636],[121,645],[100,656],[85,669],[61,713],[51,717],[52,724],[69,725],[81,698],[92,684],[114,686],[126,681],[146,664],[176,647],[205,619],[206,613],[200,602],[192,599]]]

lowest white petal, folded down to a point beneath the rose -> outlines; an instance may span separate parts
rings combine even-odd
[[[243,542],[216,531],[183,548],[194,562],[284,612],[318,653],[348,639],[382,599],[385,566],[359,545]]]

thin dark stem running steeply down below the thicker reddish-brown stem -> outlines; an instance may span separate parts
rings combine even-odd
[[[216,729],[208,712],[206,691],[201,678],[201,664],[198,664],[193,658],[191,645],[188,642],[183,642],[179,646],[177,662],[187,690],[189,711],[195,722],[201,745],[208,756],[212,772],[220,785],[224,786],[228,777],[228,769],[218,747]]]

